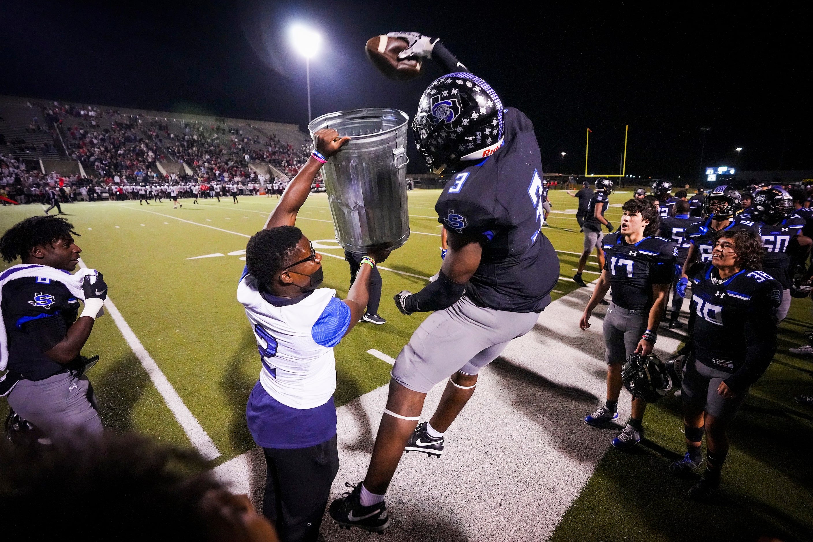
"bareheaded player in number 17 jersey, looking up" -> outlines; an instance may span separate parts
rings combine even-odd
[[[631,199],[622,210],[621,232],[610,233],[602,241],[606,263],[579,322],[582,329],[590,327],[593,309],[612,289],[603,327],[607,398],[604,406],[585,418],[593,426],[618,418],[621,366],[633,352],[645,357],[652,352],[675,275],[675,242],[654,236],[660,223],[659,209],[644,199]],[[628,449],[641,440],[644,410],[646,401],[633,397],[632,416],[612,440],[615,448]]]

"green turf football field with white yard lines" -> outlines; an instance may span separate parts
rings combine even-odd
[[[396,357],[426,317],[403,316],[390,300],[402,289],[420,289],[440,267],[440,228],[433,210],[439,193],[409,193],[412,235],[383,264],[391,271],[381,271],[379,312],[387,323],[359,324],[337,346],[337,405],[386,384],[392,367],[367,350]],[[619,192],[611,197],[613,206],[606,216],[612,223],[619,223],[620,203],[629,195]],[[550,215],[544,233],[559,250],[563,276],[555,299],[576,288],[569,277],[582,236],[574,217],[576,200],[560,191],[551,191],[550,197],[559,212]],[[76,242],[83,249],[83,261],[102,271],[111,300],[220,451],[213,466],[254,447],[245,408],[259,362],[236,289],[247,237],[262,228],[277,201],[260,196],[241,197],[237,205],[226,198],[192,205],[185,200],[176,210],[171,202],[63,205],[81,235]],[[41,212],[39,205],[2,207],[0,229]],[[336,288],[344,297],[349,268],[334,241],[324,193],[311,195],[297,225],[320,253],[327,254],[324,286]],[[585,280],[598,277],[594,262],[591,258]],[[787,353],[789,347],[802,344],[802,331],[808,327],[811,299],[794,300],[780,327],[776,358],[733,423],[724,470],[726,491],[718,503],[699,507],[686,501],[685,482],[666,473],[668,462],[684,452],[680,401],[668,397],[648,410],[647,439],[638,453],[620,453],[608,446],[553,539],[701,540],[701,528],[711,530],[705,540],[755,540],[761,534],[810,539],[813,411],[797,405],[793,396],[813,392],[813,358]],[[106,427],[189,446],[185,431],[113,319],[98,319],[83,353],[101,356],[89,378]]]

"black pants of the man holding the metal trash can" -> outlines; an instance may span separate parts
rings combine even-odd
[[[282,542],[315,542],[339,471],[336,436],[310,448],[263,448],[263,452],[267,465],[263,514]]]

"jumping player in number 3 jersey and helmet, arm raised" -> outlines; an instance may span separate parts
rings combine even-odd
[[[330,505],[341,526],[368,531],[389,525],[384,496],[405,447],[444,453],[444,433],[472,397],[478,371],[533,328],[559,280],[559,258],[540,231],[542,171],[533,124],[503,106],[437,40],[405,35],[413,54],[431,54],[447,74],[420,98],[412,123],[418,151],[435,171],[456,173],[435,206],[449,244],[438,278],[418,293],[395,296],[403,314],[435,312],[395,360],[363,483],[348,484],[353,490]],[[427,392],[444,380],[440,405],[419,424]]]

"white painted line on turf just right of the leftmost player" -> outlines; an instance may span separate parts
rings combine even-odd
[[[83,269],[87,267],[81,258],[79,259],[79,265]],[[133,350],[138,361],[141,362],[141,366],[147,371],[147,375],[150,375],[150,380],[152,380],[155,388],[158,389],[161,397],[163,397],[163,401],[167,403],[167,407],[172,411],[172,415],[175,416],[175,419],[180,423],[180,427],[183,428],[186,436],[189,437],[192,445],[198,449],[198,452],[200,452],[204,459],[211,460],[220,457],[220,450],[217,449],[215,443],[211,440],[209,435],[207,435],[207,432],[203,430],[203,427],[201,427],[198,419],[193,416],[192,412],[184,404],[184,401],[181,400],[178,392],[175,391],[175,388],[172,387],[172,384],[169,383],[169,380],[167,380],[167,377],[159,368],[158,363],[150,356],[150,353],[147,352],[144,345],[141,345],[141,341],[138,340],[136,334],[133,333],[133,330],[124,320],[124,316],[122,316],[115,307],[110,297],[107,297],[104,301],[104,305],[115,322],[116,327],[119,327],[119,331],[124,336],[124,340],[127,341],[130,349]]]

